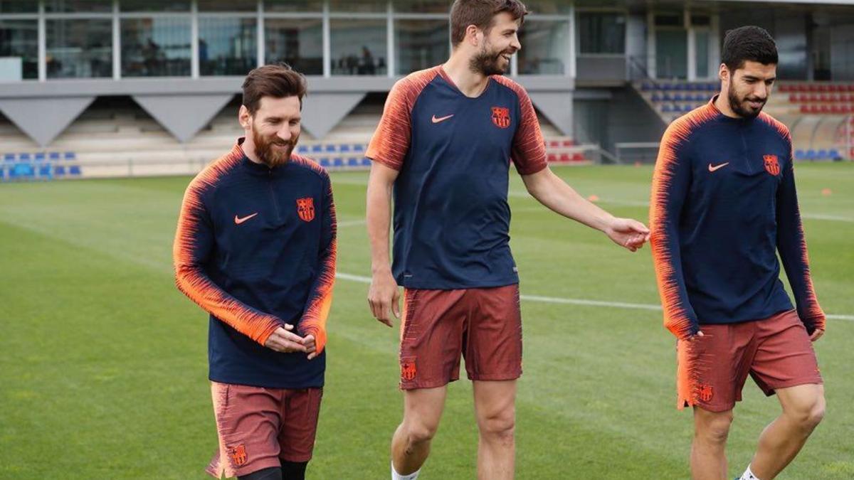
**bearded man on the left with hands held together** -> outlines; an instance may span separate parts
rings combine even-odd
[[[178,219],[178,289],[210,313],[217,478],[302,479],[312,457],[336,220],[329,175],[294,153],[305,93],[290,67],[250,72],[246,137],[190,182]]]

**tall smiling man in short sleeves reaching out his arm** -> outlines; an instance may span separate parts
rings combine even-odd
[[[527,14],[518,0],[457,0],[453,53],[389,92],[366,155],[374,316],[401,317],[403,421],[392,440],[393,479],[412,479],[430,452],[460,356],[473,381],[479,478],[512,478],[516,380],[522,374],[518,273],[509,246],[511,162],[547,208],[635,251],[646,227],[579,196],[547,167],[534,107],[506,79]],[[394,265],[389,216],[395,200]]]

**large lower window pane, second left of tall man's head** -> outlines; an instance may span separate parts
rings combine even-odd
[[[385,75],[386,20],[330,20],[332,73]]]

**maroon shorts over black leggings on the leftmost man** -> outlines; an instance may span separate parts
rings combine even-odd
[[[219,450],[205,470],[237,477],[312,458],[323,389],[265,389],[211,382]]]

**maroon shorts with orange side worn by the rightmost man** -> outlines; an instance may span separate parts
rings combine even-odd
[[[677,406],[725,412],[741,401],[747,374],[765,395],[822,383],[810,336],[794,310],[738,324],[701,325],[703,337],[677,342]]]

